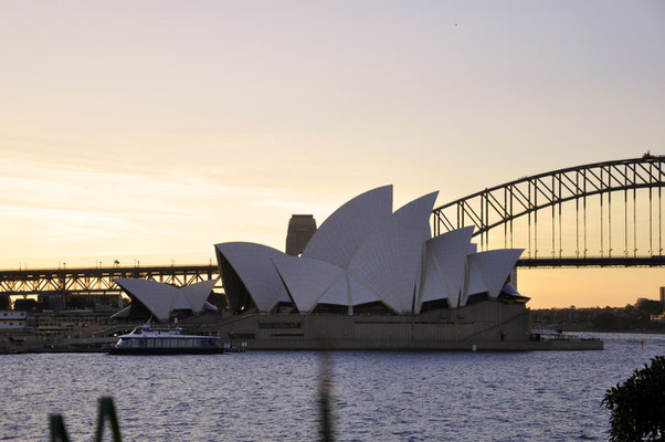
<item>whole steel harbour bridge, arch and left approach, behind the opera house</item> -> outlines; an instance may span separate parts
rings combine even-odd
[[[479,251],[490,242],[525,249],[518,267],[662,266],[664,161],[645,154],[522,177],[435,208],[432,232],[473,225]],[[183,286],[219,277],[219,270],[212,263],[4,270],[0,295],[119,294],[116,277]]]

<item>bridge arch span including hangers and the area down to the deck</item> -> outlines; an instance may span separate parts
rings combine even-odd
[[[555,266],[564,259],[581,263],[595,257],[632,259],[625,265],[644,265],[638,259],[663,253],[664,162],[665,157],[646,154],[524,177],[434,209],[432,230],[439,235],[474,225],[481,250],[488,250],[490,232],[496,241],[503,230],[500,245],[524,248],[525,261],[539,259],[538,248],[546,236],[551,250],[545,257]],[[598,253],[590,252],[591,242]],[[616,253],[614,248],[621,245]]]

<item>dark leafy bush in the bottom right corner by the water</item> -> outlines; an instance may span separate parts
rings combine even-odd
[[[665,356],[656,356],[605,392],[610,441],[665,441]]]

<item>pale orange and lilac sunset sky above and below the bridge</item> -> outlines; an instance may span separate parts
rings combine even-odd
[[[665,154],[663,1],[0,0],[0,266],[284,249],[395,209]],[[517,245],[517,244],[516,244]],[[534,307],[655,297],[662,270],[520,271]]]

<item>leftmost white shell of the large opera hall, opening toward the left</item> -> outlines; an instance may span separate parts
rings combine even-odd
[[[273,264],[273,259],[285,256],[284,253],[252,242],[225,242],[217,244],[215,249],[222,281],[224,277],[231,277],[223,274],[224,266],[221,260],[224,259],[242,280],[260,312],[270,312],[278,302],[291,301]],[[225,281],[224,285],[226,285]],[[232,292],[228,291],[226,295],[235,296],[236,294]],[[234,305],[233,299],[230,298],[229,302]]]

